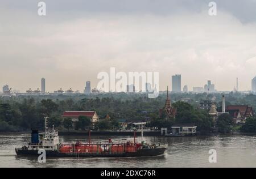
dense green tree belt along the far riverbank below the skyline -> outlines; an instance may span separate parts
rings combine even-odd
[[[24,131],[42,129],[44,116],[49,117],[49,125],[71,129],[71,119],[63,119],[61,115],[65,110],[96,110],[101,119],[109,114],[112,120],[101,120],[97,123],[98,129],[117,129],[117,119],[126,119],[141,122],[151,119],[151,126],[156,128],[171,126],[173,123],[195,123],[200,131],[208,131],[213,127],[212,117],[208,111],[198,108],[199,101],[216,99],[221,108],[221,94],[172,94],[172,104],[177,108],[176,118],[159,117],[159,109],[163,108],[166,93],[160,94],[156,99],[148,99],[146,94],[100,94],[97,96],[13,96],[0,98],[0,131]],[[189,98],[184,103],[180,100]],[[250,105],[255,109],[255,95],[241,95],[230,93],[226,95],[227,105]],[[250,120],[249,120],[250,121]],[[250,121],[251,122],[251,121]],[[80,118],[77,130],[89,129],[88,119]],[[225,133],[230,131],[230,118],[221,117],[216,124]],[[85,127],[82,127],[85,126]],[[250,127],[250,131],[251,131]],[[243,128],[243,130],[245,130]],[[246,130],[245,130],[246,131]]]

